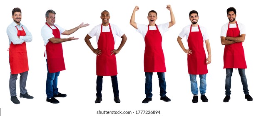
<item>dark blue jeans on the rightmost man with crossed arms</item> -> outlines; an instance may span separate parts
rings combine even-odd
[[[241,82],[243,85],[243,89],[244,89],[244,94],[249,94],[249,90],[248,90],[248,85],[247,85],[247,79],[245,76],[245,70],[244,69],[238,69],[239,75],[241,77]],[[231,76],[233,73],[233,68],[226,68],[226,84],[225,84],[225,89],[226,89],[226,95],[230,96],[231,91]]]

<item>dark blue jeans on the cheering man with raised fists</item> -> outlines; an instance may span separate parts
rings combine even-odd
[[[145,94],[146,97],[152,98],[152,75],[153,72],[145,72],[146,76],[146,82],[145,82]],[[166,83],[165,83],[165,78],[164,78],[164,72],[157,72],[158,75],[158,80],[159,80],[159,87],[160,87],[160,96],[164,97],[166,96],[165,94],[167,93],[165,91],[166,89]]]

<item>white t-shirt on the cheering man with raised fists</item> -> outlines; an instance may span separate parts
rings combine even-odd
[[[161,36],[163,37],[164,36],[164,33],[166,31],[169,30],[169,22],[167,23],[164,23],[164,24],[157,24],[157,27],[158,27],[158,30],[161,34]],[[149,30],[157,30],[157,27],[156,26],[149,26]],[[145,36],[147,34],[147,30],[148,30],[148,25],[145,25],[145,24],[138,24],[137,23],[137,28],[136,31],[139,32],[140,34],[142,34],[143,38],[145,39]]]

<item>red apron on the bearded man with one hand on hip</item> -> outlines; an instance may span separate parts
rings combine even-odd
[[[204,51],[204,39],[201,29],[198,25],[199,31],[191,32],[192,25],[190,26],[188,45],[192,51],[188,55],[188,71],[192,75],[204,75],[208,73],[206,64],[206,55]]]

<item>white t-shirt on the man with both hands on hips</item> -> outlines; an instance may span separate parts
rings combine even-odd
[[[116,41],[116,36],[121,37],[124,35],[124,32],[122,32],[121,29],[117,27],[117,25],[110,24],[110,26],[111,26],[112,34],[114,36],[114,41]],[[100,31],[101,31],[101,24],[93,27],[93,29],[89,31],[88,35],[90,37],[96,36],[96,42],[98,43]],[[110,32],[109,25],[108,26],[102,25],[102,32]]]

